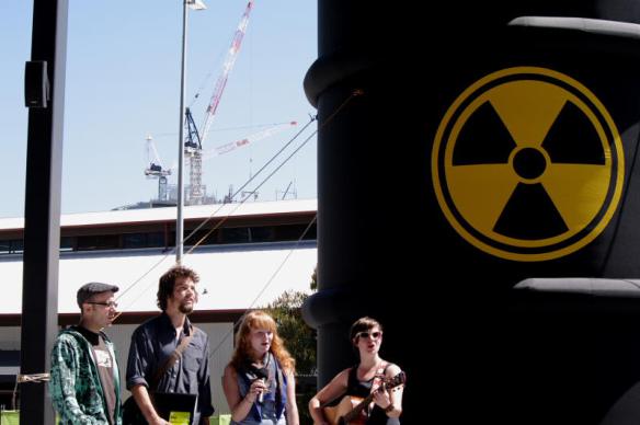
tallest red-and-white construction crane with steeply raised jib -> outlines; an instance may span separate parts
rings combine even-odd
[[[203,153],[203,142],[209,133],[214,115],[218,110],[220,104],[220,99],[227,85],[227,79],[229,78],[229,72],[236,64],[236,58],[240,51],[240,46],[242,45],[242,38],[247,32],[247,25],[249,24],[249,14],[253,8],[253,0],[249,0],[247,3],[247,9],[240,19],[240,23],[236,28],[233,34],[233,39],[231,41],[231,46],[227,51],[227,57],[222,65],[222,73],[218,77],[216,85],[214,88],[214,93],[206,108],[206,115],[203,126],[202,135],[198,133],[197,127],[193,120],[191,110],[187,107],[185,110],[185,123],[186,128],[185,140],[184,140],[184,153],[188,160],[188,180],[190,186],[186,193],[186,202],[191,205],[202,204],[205,191],[202,184],[202,153]]]

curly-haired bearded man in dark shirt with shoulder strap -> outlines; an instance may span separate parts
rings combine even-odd
[[[132,335],[127,361],[127,389],[149,424],[169,424],[153,404],[153,393],[197,397],[191,424],[208,424],[214,413],[209,382],[209,338],[193,326],[187,315],[198,296],[198,275],[191,268],[175,266],[160,277],[158,307],[162,313],[138,326]],[[191,337],[182,355],[161,377],[167,363],[183,338]]]

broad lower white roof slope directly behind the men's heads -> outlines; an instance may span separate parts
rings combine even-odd
[[[76,292],[88,282],[119,286],[119,310],[156,312],[158,279],[175,257],[161,249],[67,252],[60,255],[58,313],[78,313]],[[309,292],[318,263],[316,241],[206,245],[184,256],[201,277],[197,310],[235,310],[266,306],[286,290]],[[0,313],[20,314],[22,257],[0,256],[4,285]]]

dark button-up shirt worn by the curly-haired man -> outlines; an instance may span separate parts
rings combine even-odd
[[[182,353],[182,358],[162,376],[157,388],[149,388],[158,370],[175,351],[180,341],[175,340],[175,328],[167,313],[150,319],[138,326],[132,335],[132,346],[127,361],[127,389],[137,384],[150,391],[197,394],[194,424],[201,417],[214,414],[212,387],[209,381],[209,337],[199,329],[193,329],[185,320],[182,336],[194,335]]]

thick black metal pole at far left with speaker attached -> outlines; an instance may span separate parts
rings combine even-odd
[[[57,333],[60,186],[68,0],[34,0],[31,60],[46,62],[46,77],[25,80],[28,93],[48,91],[28,111],[21,374],[48,372]],[[49,84],[47,84],[48,80]],[[34,87],[34,84],[36,87]],[[46,106],[44,106],[46,104]],[[44,106],[44,107],[42,107]],[[20,384],[20,423],[53,424],[46,383]]]

